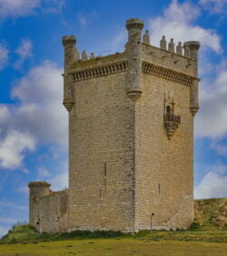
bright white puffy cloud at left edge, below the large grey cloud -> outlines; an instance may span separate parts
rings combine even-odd
[[[0,166],[5,169],[15,169],[21,166],[25,149],[35,149],[35,139],[16,130],[8,132],[0,141]]]

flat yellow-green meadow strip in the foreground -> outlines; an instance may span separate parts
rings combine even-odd
[[[96,239],[0,246],[1,256],[226,256],[225,243]]]

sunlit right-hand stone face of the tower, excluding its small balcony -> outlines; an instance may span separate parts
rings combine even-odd
[[[170,139],[163,124],[168,97],[181,116]],[[135,113],[135,229],[150,229],[152,213],[153,228],[187,228],[193,220],[190,87],[143,74]]]

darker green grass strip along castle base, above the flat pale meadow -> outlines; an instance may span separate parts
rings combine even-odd
[[[212,223],[192,223],[188,230],[143,230],[135,234],[123,234],[120,231],[80,231],[69,233],[38,233],[29,225],[15,226],[0,244],[37,243],[43,241],[67,241],[88,239],[133,239],[137,241],[209,241],[227,242],[227,228],[220,228]]]

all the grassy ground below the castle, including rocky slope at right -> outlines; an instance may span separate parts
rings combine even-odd
[[[40,234],[29,225],[15,226],[0,240],[0,256],[227,256],[227,224],[219,221],[226,205],[227,199],[196,200],[188,230]]]

